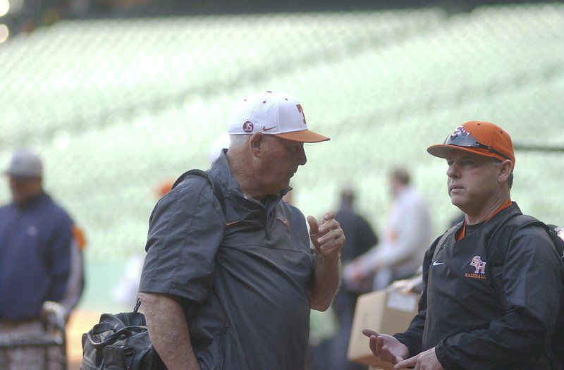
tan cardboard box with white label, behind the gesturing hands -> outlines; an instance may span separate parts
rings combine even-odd
[[[348,359],[358,364],[391,369],[391,363],[381,361],[372,354],[369,338],[362,334],[362,329],[369,328],[388,335],[401,333],[417,314],[418,301],[418,294],[396,290],[378,290],[361,295],[357,300],[350,332]]]

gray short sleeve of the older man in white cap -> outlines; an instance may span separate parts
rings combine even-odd
[[[221,205],[205,178],[190,176],[168,192],[149,220],[140,292],[202,303],[212,286],[224,226]]]

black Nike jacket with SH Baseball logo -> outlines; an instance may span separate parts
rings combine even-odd
[[[465,238],[450,235],[431,245],[423,262],[419,314],[394,335],[410,356],[435,347],[447,369],[564,369],[551,338],[561,325],[563,285],[558,255],[546,231],[527,226],[513,235],[496,232],[517,204],[498,212]],[[503,244],[505,243],[505,244]],[[508,245],[496,292],[489,261]]]

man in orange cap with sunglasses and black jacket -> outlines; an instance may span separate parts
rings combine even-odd
[[[405,333],[365,329],[394,369],[563,369],[563,273],[542,224],[511,201],[515,155],[489,122],[459,126],[427,149],[448,164],[448,195],[465,220],[423,262],[419,314]]]

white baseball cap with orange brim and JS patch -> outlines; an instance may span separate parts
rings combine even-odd
[[[282,92],[263,92],[243,99],[229,117],[229,135],[276,135],[296,142],[323,142],[329,137],[307,130],[300,102]]]

